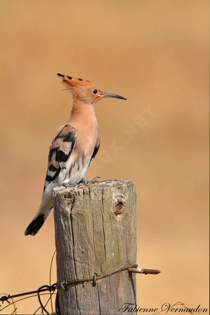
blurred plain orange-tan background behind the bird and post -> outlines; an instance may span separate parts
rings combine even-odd
[[[71,111],[60,72],[128,99],[96,104],[101,145],[86,178],[135,183],[137,263],[161,270],[137,275],[138,306],[209,308],[209,1],[0,5],[0,293],[49,284],[53,213],[35,237],[24,231],[40,205],[48,147]],[[32,314],[39,303],[16,306]]]

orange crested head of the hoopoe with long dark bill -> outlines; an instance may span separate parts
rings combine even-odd
[[[97,85],[87,80],[65,76],[60,73],[57,73],[57,75],[63,79],[61,83],[65,85],[66,90],[70,90],[74,101],[79,100],[84,104],[94,106],[103,97],[115,97],[126,100],[126,98],[120,95],[104,92]]]

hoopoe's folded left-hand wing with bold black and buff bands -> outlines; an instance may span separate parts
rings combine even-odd
[[[61,126],[58,135],[49,147],[48,171],[45,178],[44,190],[47,185],[56,180],[60,170],[66,168],[66,162],[74,149],[77,132],[69,124]]]

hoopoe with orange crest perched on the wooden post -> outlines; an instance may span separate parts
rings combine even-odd
[[[41,205],[34,219],[26,228],[25,235],[35,235],[43,226],[53,208],[53,187],[72,187],[78,183],[95,183],[98,177],[84,177],[88,166],[96,156],[100,145],[98,122],[94,113],[95,103],[103,97],[126,98],[104,92],[94,83],[79,78],[62,78],[65,89],[73,96],[71,117],[58,129],[58,134],[49,147],[48,170],[44,183]]]

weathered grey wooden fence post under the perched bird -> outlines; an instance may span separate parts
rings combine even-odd
[[[132,180],[55,187],[54,221],[58,286],[136,264]],[[91,281],[59,289],[58,295],[61,314],[119,314],[122,303],[136,303],[136,275],[125,270],[95,286]]]

